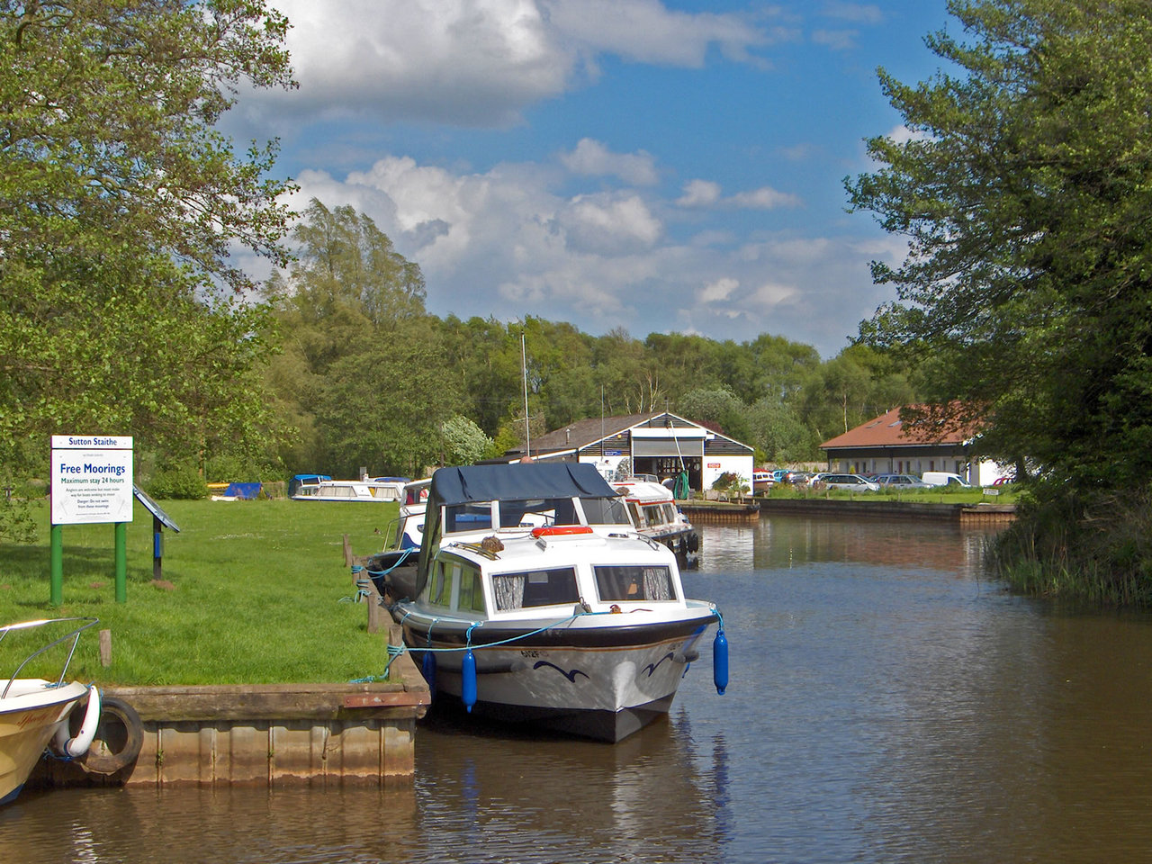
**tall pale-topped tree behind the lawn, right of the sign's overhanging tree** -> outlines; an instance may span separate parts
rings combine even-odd
[[[350,206],[313,199],[294,228],[297,259],[266,286],[283,332],[268,370],[294,470],[414,473],[441,452],[458,410],[445,329],[424,311],[419,266]]]

